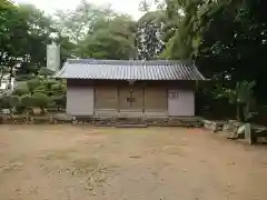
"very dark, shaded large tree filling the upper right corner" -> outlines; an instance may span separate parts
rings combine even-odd
[[[201,42],[196,56],[200,70],[217,80],[256,81],[255,96],[266,101],[266,1],[218,1],[201,16]]]

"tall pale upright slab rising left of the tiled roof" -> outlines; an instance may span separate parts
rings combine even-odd
[[[58,71],[60,67],[60,46],[47,46],[47,68],[51,71]]]

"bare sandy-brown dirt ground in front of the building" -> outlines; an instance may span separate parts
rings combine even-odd
[[[267,149],[200,129],[0,127],[1,200],[266,200]]]

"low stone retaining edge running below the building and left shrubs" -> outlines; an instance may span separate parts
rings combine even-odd
[[[71,117],[67,114],[53,116],[13,116],[12,118],[2,116],[2,124],[58,124],[58,123],[72,123],[72,124],[92,124],[99,127],[116,127],[118,124],[146,124],[155,127],[186,127],[199,128],[202,127],[200,118],[92,118],[92,117]]]

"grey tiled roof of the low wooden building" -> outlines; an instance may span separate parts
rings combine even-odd
[[[67,60],[56,77],[106,80],[205,80],[194,64],[165,60]]]

